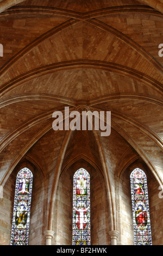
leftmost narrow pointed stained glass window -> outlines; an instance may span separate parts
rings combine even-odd
[[[16,176],[10,245],[28,245],[33,174],[23,168]]]

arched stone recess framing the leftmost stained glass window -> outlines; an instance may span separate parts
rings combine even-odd
[[[32,201],[30,209],[30,226],[29,226],[29,245],[43,245],[44,237],[42,236],[45,227],[42,223],[45,223],[46,205],[45,205],[45,184],[42,172],[39,168],[30,161],[30,157],[24,157],[12,170],[8,180],[3,187],[3,200],[0,206],[1,210],[1,223],[0,230],[4,245],[10,245],[11,239],[11,224],[12,214],[14,209],[14,195],[15,195],[15,183],[17,173],[23,169],[28,168],[33,173],[33,190]],[[8,211],[5,209],[8,205]],[[41,212],[40,212],[41,209]],[[5,223],[5,228],[3,227]]]

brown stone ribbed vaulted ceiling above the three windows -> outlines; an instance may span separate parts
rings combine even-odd
[[[24,156],[45,173],[77,154],[100,169],[101,150],[114,169],[140,155],[161,184],[161,0],[2,0],[0,10],[1,184]],[[111,111],[111,135],[52,129],[54,111],[79,105]]]

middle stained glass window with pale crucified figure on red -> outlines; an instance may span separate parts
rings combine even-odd
[[[73,176],[72,245],[90,245],[90,175],[83,168]]]

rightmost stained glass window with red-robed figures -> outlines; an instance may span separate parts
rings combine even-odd
[[[152,245],[147,176],[136,168],[130,174],[135,245]]]

